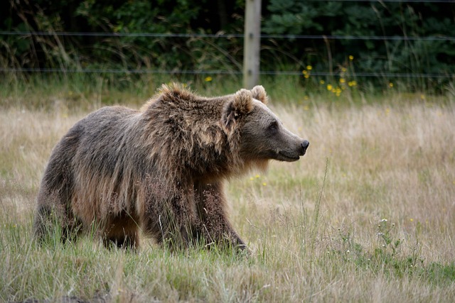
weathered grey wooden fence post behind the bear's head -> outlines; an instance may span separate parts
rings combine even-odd
[[[259,84],[261,40],[261,0],[246,0],[245,38],[243,42],[243,87]]]

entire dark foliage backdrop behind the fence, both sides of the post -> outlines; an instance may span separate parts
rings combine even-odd
[[[0,34],[0,67],[233,74],[242,70],[243,39],[238,37],[53,33],[241,35],[244,9],[245,2],[238,0],[4,1],[0,31],[50,35]],[[438,91],[454,79],[454,21],[454,3],[263,1],[262,34],[314,38],[262,38],[261,69],[298,73],[311,65],[313,75],[323,79],[338,77],[349,65],[356,80],[366,75],[370,81],[379,79],[375,83],[402,82],[410,89]],[[389,38],[380,38],[384,36]],[[349,56],[355,59],[350,62]]]

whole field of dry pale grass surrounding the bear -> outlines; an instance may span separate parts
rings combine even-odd
[[[232,223],[253,250],[245,256],[171,253],[151,241],[130,253],[90,236],[36,246],[34,199],[50,150],[100,106],[95,97],[91,108],[68,106],[68,94],[45,109],[0,111],[0,302],[455,301],[453,100],[272,99],[311,144],[299,162],[228,184]]]

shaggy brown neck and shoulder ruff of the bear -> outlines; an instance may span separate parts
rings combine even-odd
[[[141,113],[141,141],[150,169],[166,179],[220,180],[240,175],[240,125],[226,133],[222,98],[156,99]],[[184,176],[184,177],[183,177]]]

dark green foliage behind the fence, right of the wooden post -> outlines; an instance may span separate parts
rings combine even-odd
[[[359,75],[385,75],[383,77],[391,81],[395,79],[387,74],[410,74],[405,81],[423,86],[429,84],[429,79],[417,77],[416,80],[412,75],[453,75],[455,4],[270,0],[267,11],[269,16],[264,18],[262,27],[267,34],[363,37],[279,40],[277,45],[296,56],[302,63],[301,69],[311,64],[314,71],[336,75],[340,70],[338,66],[353,55]],[[416,37],[451,39],[412,39]]]

